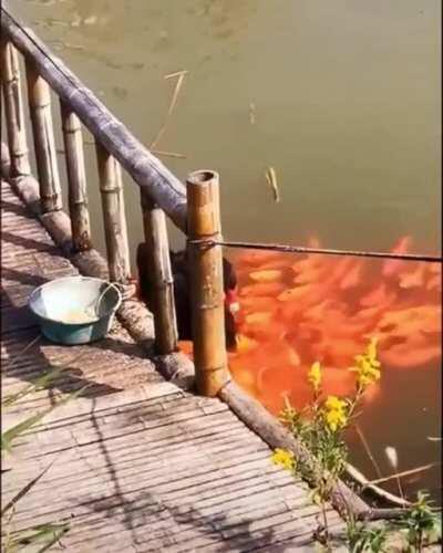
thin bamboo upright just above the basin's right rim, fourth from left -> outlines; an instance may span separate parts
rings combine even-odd
[[[110,279],[126,284],[131,276],[130,247],[119,163],[95,143]]]

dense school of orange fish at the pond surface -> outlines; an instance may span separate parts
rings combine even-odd
[[[404,253],[411,242],[402,238],[392,251]],[[424,369],[441,359],[440,263],[275,251],[241,251],[234,263],[240,311],[229,368],[275,414],[285,396],[296,407],[310,400],[315,361],[324,393],[352,393],[348,368],[371,336],[385,367]],[[367,399],[379,392],[373,386]]]

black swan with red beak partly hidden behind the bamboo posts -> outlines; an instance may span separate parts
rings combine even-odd
[[[189,269],[187,264],[186,251],[169,251],[171,268],[174,276],[174,300],[177,316],[178,340],[192,340],[192,304],[189,286]],[[148,279],[148,254],[147,246],[142,242],[137,247],[137,271],[138,290],[141,300],[147,306],[152,305],[152,289]],[[236,321],[235,313],[238,310],[237,302],[237,275],[233,263],[223,258],[223,279],[225,291],[225,334],[226,347],[236,347]]]

